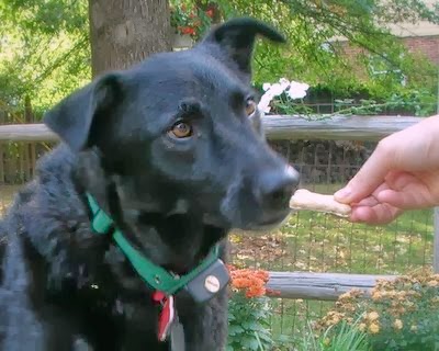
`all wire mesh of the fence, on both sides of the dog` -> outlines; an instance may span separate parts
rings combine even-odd
[[[0,213],[16,190],[34,174],[44,144],[2,144],[0,147]],[[358,171],[375,147],[359,141],[279,141],[272,145],[302,174],[302,186],[334,193]],[[36,150],[36,151],[34,151]],[[29,154],[31,152],[31,154]],[[27,155],[27,156],[26,156]],[[24,159],[23,159],[24,157]],[[27,157],[27,158],[26,158]],[[402,274],[432,264],[432,211],[414,211],[386,226],[350,224],[330,215],[297,212],[281,228],[258,236],[230,236],[235,264],[269,271]],[[308,320],[333,303],[273,299],[274,335],[295,336]]]

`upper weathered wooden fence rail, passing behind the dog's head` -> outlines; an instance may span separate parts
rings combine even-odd
[[[380,140],[417,122],[414,116],[333,116],[308,120],[301,116],[263,117],[267,137],[279,139]],[[57,136],[43,124],[0,126],[0,141],[54,141]]]

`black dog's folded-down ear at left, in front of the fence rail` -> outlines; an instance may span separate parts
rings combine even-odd
[[[45,113],[43,122],[74,151],[80,151],[109,132],[123,95],[122,75],[109,73],[65,98]]]

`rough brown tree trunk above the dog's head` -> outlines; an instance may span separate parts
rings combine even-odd
[[[93,77],[171,49],[168,0],[89,0]]]

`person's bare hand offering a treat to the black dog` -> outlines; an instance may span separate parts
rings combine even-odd
[[[380,141],[335,199],[352,206],[352,222],[368,224],[439,205],[439,115]]]

